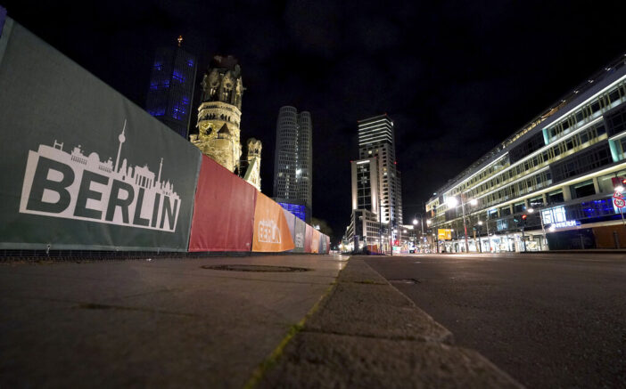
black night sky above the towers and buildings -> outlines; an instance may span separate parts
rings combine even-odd
[[[610,2],[0,4],[142,107],[157,46],[182,35],[199,57],[198,85],[210,57],[235,55],[247,88],[242,140],[263,142],[269,196],[278,109],[311,113],[313,215],[330,223],[334,243],[350,221],[358,119],[394,120],[410,223],[433,191],[626,53],[624,6]]]

